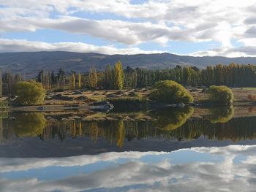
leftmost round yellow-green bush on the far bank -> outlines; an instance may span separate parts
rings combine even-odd
[[[45,101],[45,88],[42,87],[40,82],[18,82],[15,94],[17,95],[15,100],[17,104],[35,105],[43,104]]]

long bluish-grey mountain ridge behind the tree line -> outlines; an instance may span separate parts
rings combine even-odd
[[[0,70],[7,72],[21,72],[37,74],[39,70],[54,70],[59,68],[64,71],[89,71],[90,66],[104,70],[107,64],[116,64],[121,61],[124,67],[140,67],[145,69],[166,69],[176,65],[205,66],[216,64],[256,64],[256,57],[192,57],[174,55],[171,53],[138,54],[138,55],[105,55],[99,53],[74,53],[74,52],[19,52],[0,53]]]

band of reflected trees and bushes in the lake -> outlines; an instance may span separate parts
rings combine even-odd
[[[148,112],[146,115],[118,114],[111,118],[91,119],[59,119],[59,116],[49,118],[43,113],[12,113],[12,119],[3,118],[0,121],[0,139],[7,142],[15,137],[34,137],[47,142],[51,139],[64,141],[67,138],[88,137],[95,144],[101,138],[110,145],[123,147],[125,142],[135,139],[192,140],[207,137],[237,142],[256,138],[256,117],[232,118],[233,107],[214,108],[210,115],[203,117],[192,117],[193,112],[192,107],[185,107]]]

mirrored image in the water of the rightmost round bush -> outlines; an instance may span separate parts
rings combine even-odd
[[[224,107],[213,107],[211,109],[211,115],[209,115],[209,120],[211,123],[226,123],[234,116],[234,107],[224,106]]]

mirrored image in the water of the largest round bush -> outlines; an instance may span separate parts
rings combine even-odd
[[[156,119],[156,126],[165,131],[171,131],[181,127],[192,116],[194,109],[184,107],[179,109],[159,110],[151,112],[152,118]]]

